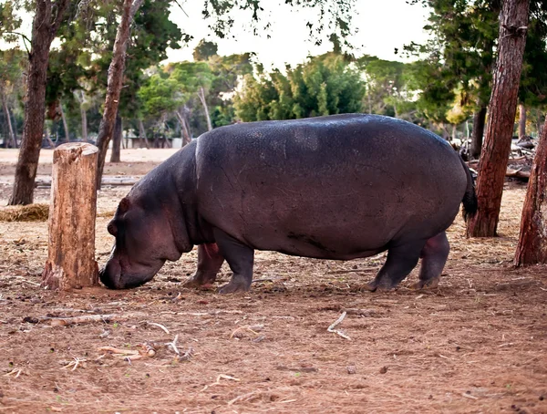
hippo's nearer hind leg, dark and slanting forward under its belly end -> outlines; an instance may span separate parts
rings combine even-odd
[[[366,290],[374,292],[377,289],[389,290],[396,287],[418,264],[419,254],[425,243],[425,241],[413,240],[389,247],[386,263],[374,280],[366,285]]]

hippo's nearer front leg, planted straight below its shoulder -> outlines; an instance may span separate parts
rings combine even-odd
[[[219,289],[219,293],[231,294],[233,292],[248,291],[251,289],[251,283],[253,282],[254,250],[220,229],[215,228],[213,233],[221,254],[230,265],[233,273],[230,283],[223,285]]]

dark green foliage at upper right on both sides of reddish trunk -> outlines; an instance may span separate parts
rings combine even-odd
[[[484,107],[490,99],[499,36],[501,0],[413,0],[432,12],[425,45],[411,43],[409,54],[422,57],[414,66],[418,108],[435,122],[447,122],[455,98],[462,115]],[[532,0],[520,99],[538,105],[547,96],[547,1]],[[461,117],[449,118],[456,122]]]

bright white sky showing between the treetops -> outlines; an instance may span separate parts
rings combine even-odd
[[[332,49],[332,44],[326,40],[330,34],[328,30],[325,31],[323,45],[317,47],[314,40],[310,39],[305,24],[316,20],[316,11],[298,10],[284,5],[284,0],[263,0],[263,5],[272,7],[266,9],[263,14],[264,17],[269,16],[272,23],[267,32],[253,36],[249,25],[245,23],[249,21],[250,16],[240,12],[234,15],[236,25],[232,33],[224,39],[214,36],[208,28],[208,23],[203,21],[202,1],[179,0],[179,4],[184,12],[179,6],[173,5],[170,19],[181,27],[183,33],[194,36],[194,39],[181,49],[169,49],[169,61],[192,60],[193,48],[202,38],[217,43],[220,55],[255,52],[257,60],[263,63],[266,69],[273,66],[283,68],[285,63],[295,65],[303,62],[309,55],[319,55]],[[408,5],[405,0],[356,0],[353,25],[358,32],[349,39],[356,47],[354,54],[357,57],[368,54],[387,60],[405,60],[405,57],[400,55],[405,44],[411,41],[420,43],[427,39],[423,26],[427,23],[428,13],[428,9],[421,5]],[[24,15],[21,31],[30,37],[32,16]],[[0,42],[0,48],[5,47],[5,43]],[[399,49],[399,55],[394,54],[396,47]]]

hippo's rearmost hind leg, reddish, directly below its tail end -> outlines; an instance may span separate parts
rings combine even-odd
[[[416,289],[424,287],[435,288],[439,285],[440,274],[449,257],[450,244],[447,233],[442,232],[428,239],[421,251],[421,266],[419,280],[414,285]]]

